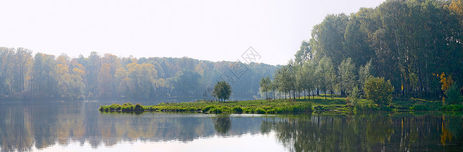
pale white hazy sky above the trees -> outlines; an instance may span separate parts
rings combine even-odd
[[[384,0],[1,1],[0,46],[71,57],[101,55],[285,64],[327,14]]]

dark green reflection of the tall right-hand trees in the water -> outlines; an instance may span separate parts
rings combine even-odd
[[[292,115],[262,122],[261,132],[274,131],[289,151],[461,151],[463,117],[447,117],[405,112]]]

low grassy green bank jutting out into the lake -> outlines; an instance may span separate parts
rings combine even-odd
[[[430,111],[463,111],[463,105],[443,105],[441,101],[419,98],[396,98],[384,107],[362,99],[356,105],[347,104],[346,97],[334,95],[325,99],[324,95],[301,97],[296,99],[276,100],[246,100],[246,101],[201,101],[181,103],[160,103],[158,105],[123,105],[112,104],[101,106],[100,111],[198,111],[209,113],[300,113],[312,111],[399,111],[399,110],[430,110]]]

